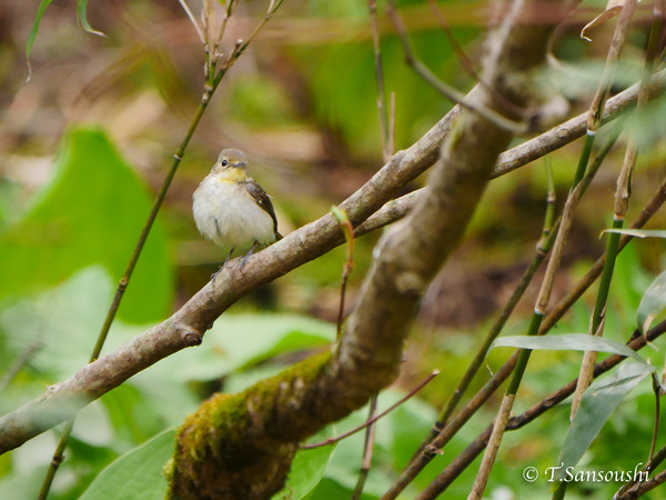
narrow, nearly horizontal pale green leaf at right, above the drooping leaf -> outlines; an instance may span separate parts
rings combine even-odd
[[[515,347],[546,351],[609,352],[612,354],[626,356],[643,364],[647,364],[636,351],[629,349],[624,343],[587,333],[566,333],[563,336],[547,337],[501,337],[491,344],[488,352],[498,347]]]

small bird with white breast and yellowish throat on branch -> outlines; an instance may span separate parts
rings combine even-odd
[[[241,260],[242,270],[258,244],[269,246],[282,238],[278,232],[271,198],[248,176],[246,168],[248,157],[243,151],[222,150],[211,173],[192,196],[196,229],[229,251],[220,270],[226,266],[234,250],[249,249]]]

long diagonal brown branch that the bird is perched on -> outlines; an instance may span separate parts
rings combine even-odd
[[[666,71],[662,71],[653,78],[653,96],[663,93],[665,88]],[[606,106],[604,119],[617,118],[633,107],[636,96],[637,86],[633,86],[612,98]],[[360,224],[356,236],[401,219],[427,191],[420,190],[389,201],[400,188],[423,173],[435,161],[437,148],[458,112],[460,109],[454,108],[411,148],[394,154],[366,184],[341,204],[354,226]],[[581,114],[573,118],[502,153],[491,176],[495,178],[513,171],[582,137],[585,133],[585,117],[586,114]],[[386,204],[382,207],[383,203]],[[369,218],[380,207],[381,210]],[[211,283],[206,284],[171,318],[0,418],[0,454],[73,417],[92,400],[161,359],[186,347],[200,344],[205,328],[236,300],[343,242],[344,237],[337,223],[331,214],[326,214],[253,256],[248,260],[243,274],[235,267],[225,269],[215,280],[214,288]]]

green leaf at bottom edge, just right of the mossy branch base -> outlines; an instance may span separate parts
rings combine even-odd
[[[319,432],[309,442],[323,441],[334,433],[334,427],[326,427],[324,431]],[[286,478],[286,486],[273,499],[300,500],[304,498],[322,480],[334,451],[335,444],[313,448],[311,450],[300,450],[292,461],[292,467]]]

